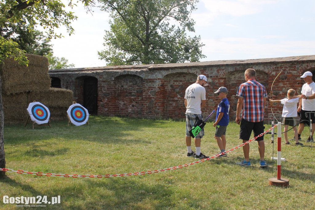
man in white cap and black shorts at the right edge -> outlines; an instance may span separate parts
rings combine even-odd
[[[312,120],[312,136],[308,137],[306,142],[313,141],[313,134],[315,130],[315,83],[312,79],[312,72],[306,71],[301,78],[306,82],[302,86],[299,108],[297,109],[300,114],[300,124],[298,129],[299,140],[301,139],[301,133],[304,129],[305,123],[310,125],[309,119]],[[312,113],[307,113],[312,112]]]

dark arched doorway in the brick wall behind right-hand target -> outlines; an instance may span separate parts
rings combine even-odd
[[[97,115],[98,80],[93,76],[80,76],[75,80],[73,98],[83,105],[90,115]]]

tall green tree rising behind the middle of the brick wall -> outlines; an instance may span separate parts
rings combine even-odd
[[[204,45],[186,34],[194,32],[190,14],[198,1],[100,0],[112,20],[99,59],[108,65],[198,62]]]

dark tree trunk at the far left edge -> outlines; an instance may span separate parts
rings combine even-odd
[[[2,105],[2,81],[0,75],[0,168],[5,168],[5,156],[4,156],[4,139],[3,139],[3,105]],[[5,176],[5,171],[0,171],[0,177]]]

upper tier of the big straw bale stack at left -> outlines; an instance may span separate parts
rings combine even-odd
[[[31,54],[26,56],[29,60],[28,67],[21,66],[13,58],[0,65],[3,94],[49,89],[51,81],[48,74],[48,58]]]

